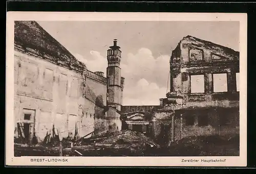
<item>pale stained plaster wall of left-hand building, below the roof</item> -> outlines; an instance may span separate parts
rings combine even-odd
[[[84,86],[80,73],[18,51],[14,58],[15,127],[17,122],[24,122],[24,109],[28,109],[35,113],[33,124],[38,142],[51,133],[53,125],[62,137],[73,138],[75,128],[79,137],[94,131],[95,115],[104,115],[103,107],[95,105],[96,99],[104,105],[106,86],[92,84],[89,80],[88,87],[95,87],[97,96],[101,96],[90,101],[82,95]],[[17,137],[16,128],[15,131]]]

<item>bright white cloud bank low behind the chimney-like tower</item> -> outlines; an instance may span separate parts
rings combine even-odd
[[[106,73],[106,58],[97,51],[90,51],[89,56],[75,54],[89,70]],[[140,48],[136,54],[123,54],[120,67],[125,78],[123,105],[159,105],[159,98],[166,94],[169,56],[154,58],[150,49]]]

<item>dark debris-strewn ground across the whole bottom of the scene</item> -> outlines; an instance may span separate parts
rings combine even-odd
[[[161,147],[142,133],[124,130],[62,142],[62,156],[239,156],[239,135],[191,136]],[[15,156],[59,156],[58,144],[14,146]]]

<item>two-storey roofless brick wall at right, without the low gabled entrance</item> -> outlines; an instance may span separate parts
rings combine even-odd
[[[239,73],[239,52],[187,36],[172,53],[170,72],[170,92],[178,92],[183,97],[182,117],[175,117],[176,139],[193,135],[239,133],[239,84],[236,79]],[[196,77],[198,79],[193,81]],[[207,125],[200,125],[200,120],[204,119],[202,113],[208,117]],[[194,118],[192,125],[186,125],[186,115],[190,119]],[[229,123],[223,125],[221,120]]]

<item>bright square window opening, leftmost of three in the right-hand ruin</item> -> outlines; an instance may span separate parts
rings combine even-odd
[[[204,75],[190,76],[191,93],[204,93]]]

